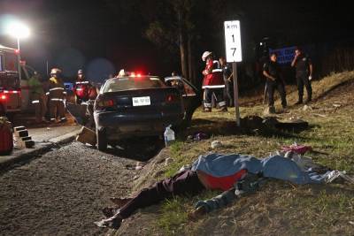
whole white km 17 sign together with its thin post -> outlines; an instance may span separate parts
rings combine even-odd
[[[225,49],[227,50],[227,62],[233,65],[234,99],[237,126],[240,126],[240,108],[238,104],[238,81],[236,62],[242,62],[240,20],[224,22]]]

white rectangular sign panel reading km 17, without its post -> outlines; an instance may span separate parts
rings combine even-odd
[[[241,62],[241,31],[240,20],[224,22],[225,48],[227,49],[227,62]]]

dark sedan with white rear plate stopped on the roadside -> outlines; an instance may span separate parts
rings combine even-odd
[[[190,89],[196,97],[194,88]],[[104,150],[108,142],[131,136],[161,135],[168,125],[182,126],[196,109],[186,112],[183,98],[179,88],[167,86],[156,76],[106,80],[94,106],[97,148]]]

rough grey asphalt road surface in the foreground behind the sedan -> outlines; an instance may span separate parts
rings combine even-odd
[[[149,142],[149,141],[148,141]],[[151,142],[151,141],[150,141]],[[143,141],[109,153],[73,142],[0,176],[0,235],[102,235],[94,221],[112,196],[130,194],[136,160],[158,151]],[[144,151],[145,150],[145,151]],[[133,159],[132,159],[133,158]]]

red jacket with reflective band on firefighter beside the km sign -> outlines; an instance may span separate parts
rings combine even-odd
[[[202,88],[225,88],[219,61],[208,59],[203,74],[204,80]]]

